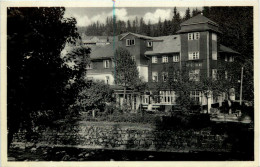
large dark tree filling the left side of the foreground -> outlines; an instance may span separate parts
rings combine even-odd
[[[79,38],[75,18],[65,8],[8,8],[7,10],[7,124],[8,146],[23,125],[31,130],[34,112],[65,115],[74,102],[69,80],[75,73],[60,56],[65,43]]]

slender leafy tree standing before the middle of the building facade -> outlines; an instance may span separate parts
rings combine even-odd
[[[135,61],[132,59],[131,53],[121,47],[116,50],[115,71],[115,82],[124,87],[125,100],[126,88],[135,88],[139,80],[139,72]]]

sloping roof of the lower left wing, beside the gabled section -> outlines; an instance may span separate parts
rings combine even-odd
[[[113,58],[114,56],[113,44],[94,45],[91,46],[90,48],[91,48],[90,59],[92,60]]]

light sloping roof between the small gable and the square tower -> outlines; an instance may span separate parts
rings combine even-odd
[[[145,55],[176,53],[181,51],[180,35],[154,37],[162,42],[153,42],[153,50],[146,51]]]

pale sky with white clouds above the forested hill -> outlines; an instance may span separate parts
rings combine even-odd
[[[196,7],[190,7],[192,9]],[[201,9],[202,7],[197,7]],[[177,11],[181,16],[184,16],[186,7],[177,7]],[[105,23],[106,18],[113,14],[112,7],[70,7],[66,8],[65,17],[75,17],[77,19],[77,26],[88,26],[91,23],[99,21]],[[156,8],[156,7],[121,7],[115,9],[117,19],[127,21],[134,20],[135,17],[143,17],[145,23],[149,20],[151,24],[157,23],[159,18],[162,21],[171,20],[173,16],[173,7],[170,8]]]

